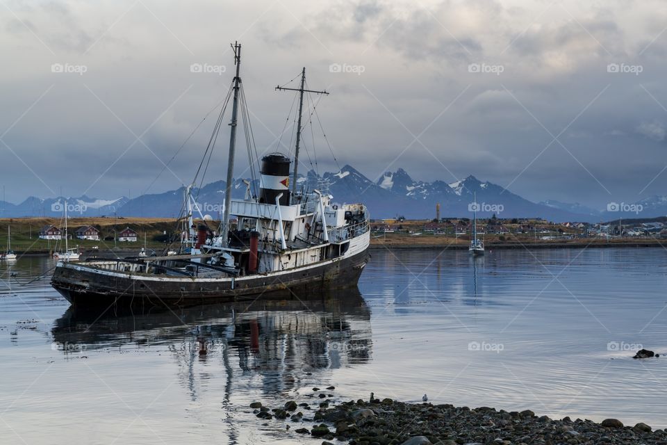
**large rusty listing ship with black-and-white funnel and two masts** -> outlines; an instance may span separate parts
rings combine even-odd
[[[231,199],[237,110],[244,97],[240,83],[240,44],[234,44],[236,76],[224,195],[219,230],[208,227],[186,189],[186,248],[167,248],[155,257],[88,259],[79,264],[58,261],[51,284],[74,305],[133,303],[199,304],[211,300],[256,300],[275,296],[356,286],[368,262],[370,216],[361,204],[338,204],[325,191],[296,190],[301,111],[294,162],[280,153],[261,160],[258,193],[246,181],[243,200]],[[299,91],[301,104],[305,69]],[[281,88],[290,89],[290,88]],[[240,104],[244,106],[244,104]],[[247,113],[246,110],[242,111]],[[221,111],[218,122],[222,120]],[[220,124],[214,131],[219,131]],[[217,133],[214,133],[217,138]],[[211,138],[211,140],[215,140]],[[252,138],[246,138],[246,142]],[[250,150],[249,150],[250,152]],[[210,156],[207,152],[204,155]],[[252,168],[253,161],[250,160]],[[290,172],[293,172],[290,190]],[[196,179],[196,178],[195,178]],[[232,224],[231,216],[236,216]]]

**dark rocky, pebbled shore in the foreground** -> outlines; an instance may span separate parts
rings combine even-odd
[[[263,426],[273,423],[288,435],[311,436],[313,442],[321,439],[322,445],[336,441],[352,445],[667,444],[665,430],[652,430],[645,423],[557,420],[531,410],[508,412],[390,398],[337,402],[333,389],[313,388],[307,402],[287,401],[279,407],[254,402],[251,408]]]

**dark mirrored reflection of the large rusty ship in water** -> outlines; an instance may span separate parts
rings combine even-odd
[[[122,312],[118,312],[122,310]],[[359,290],[308,300],[258,300],[138,312],[102,313],[69,307],[56,320],[53,341],[63,353],[156,348],[170,351],[179,378],[196,398],[197,362],[221,363],[229,388],[236,375],[261,375],[265,394],[289,391],[309,371],[368,362],[370,310]],[[221,375],[222,377],[222,375]]]

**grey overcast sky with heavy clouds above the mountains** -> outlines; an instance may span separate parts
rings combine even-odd
[[[215,111],[154,180],[227,93],[239,40],[258,152],[285,151],[293,95],[274,87],[305,66],[331,92],[338,165],[370,179],[475,175],[598,209],[667,195],[666,26],[658,0],[1,0],[0,182],[10,202],[189,182]],[[228,117],[207,181],[224,179]]]

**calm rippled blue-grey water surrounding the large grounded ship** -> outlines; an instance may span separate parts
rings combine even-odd
[[[361,293],[106,314],[69,309],[51,259],[0,264],[2,442],[320,443],[247,405],[329,385],[667,427],[667,356],[630,358],[667,353],[665,250],[372,256]]]

